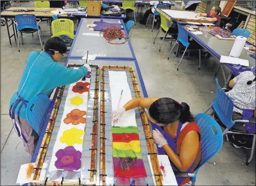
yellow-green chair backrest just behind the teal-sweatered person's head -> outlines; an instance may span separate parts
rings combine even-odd
[[[58,19],[52,22],[53,36],[60,37],[68,36],[72,40],[74,39],[74,22],[69,19]]]

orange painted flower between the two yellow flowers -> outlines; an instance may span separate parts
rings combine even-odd
[[[86,123],[86,118],[83,118],[84,115],[86,115],[86,111],[80,111],[79,109],[74,109],[66,115],[66,118],[63,120],[63,122],[66,124],[72,123],[72,125]]]

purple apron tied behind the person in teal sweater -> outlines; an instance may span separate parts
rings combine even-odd
[[[17,100],[12,103],[10,109],[9,109],[9,115],[11,117],[11,119],[14,119],[14,123],[15,123],[15,128],[17,130],[17,133],[18,133],[18,136],[23,138],[23,140],[27,143],[28,140],[25,138],[25,136],[22,134],[22,131],[20,132],[18,126],[17,126],[17,122],[21,125],[21,121],[20,121],[20,112],[21,112],[21,107],[24,105],[25,108],[27,108],[28,106],[28,101],[26,101],[25,99],[23,99],[20,95],[19,95],[19,92],[17,92]],[[16,121],[16,118],[15,118],[15,111],[16,111],[16,108],[18,106],[18,104],[21,103],[21,105],[18,107],[18,112],[17,112],[17,119],[18,121]]]

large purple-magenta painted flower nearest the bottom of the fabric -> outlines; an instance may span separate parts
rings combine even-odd
[[[82,153],[73,146],[58,150],[55,155],[58,158],[54,164],[57,169],[73,171],[81,168]]]

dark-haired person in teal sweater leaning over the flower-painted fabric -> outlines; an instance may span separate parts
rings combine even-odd
[[[58,63],[57,61],[66,51],[66,44],[58,37],[50,38],[45,43],[44,51],[32,51],[29,54],[18,91],[14,93],[10,101],[10,116],[21,128],[23,144],[30,158],[33,156],[38,136],[27,121],[27,103],[39,94],[47,94],[50,97],[55,87],[77,82],[87,74],[87,71],[91,70],[88,64],[74,70]]]

